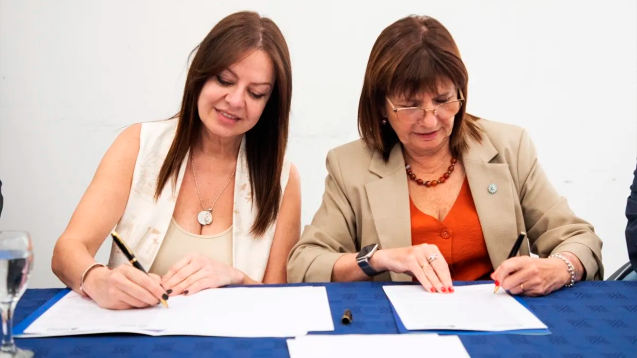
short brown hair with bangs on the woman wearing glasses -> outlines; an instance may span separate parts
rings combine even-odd
[[[450,80],[465,99],[450,138],[452,155],[459,157],[468,137],[482,140],[477,118],[466,113],[468,78],[454,39],[438,20],[416,15],[397,20],[380,33],[369,55],[358,113],[362,140],[387,161],[398,137],[382,125],[385,96],[436,93],[440,80]]]

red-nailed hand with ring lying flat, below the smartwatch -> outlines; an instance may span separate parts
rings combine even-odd
[[[429,257],[436,258],[428,262]],[[413,276],[428,292],[454,292],[449,265],[436,245],[424,243],[378,250],[372,255],[369,264],[378,271],[392,271]]]

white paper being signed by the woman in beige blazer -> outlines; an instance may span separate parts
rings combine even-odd
[[[452,294],[426,292],[420,285],[383,286],[406,329],[510,331],[545,329],[531,311],[494,285],[454,287]]]

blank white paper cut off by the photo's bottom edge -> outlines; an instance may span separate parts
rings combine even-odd
[[[469,358],[457,336],[436,334],[311,334],[287,340],[290,358]]]

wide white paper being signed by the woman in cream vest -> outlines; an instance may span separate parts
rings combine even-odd
[[[209,289],[170,297],[168,304],[169,308],[106,310],[69,292],[19,337],[95,333],[293,337],[334,330],[325,287]]]

